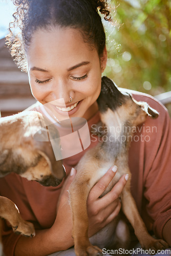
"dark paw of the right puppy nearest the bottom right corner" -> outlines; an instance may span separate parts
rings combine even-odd
[[[148,244],[144,246],[146,250],[150,249],[151,254],[156,254],[158,251],[168,248],[168,244],[162,239],[153,238],[152,241],[148,241]]]

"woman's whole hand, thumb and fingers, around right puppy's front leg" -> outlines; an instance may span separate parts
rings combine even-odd
[[[112,170],[113,169],[113,170]],[[125,176],[115,184],[112,190],[104,197],[99,198],[106,187],[115,176],[117,167],[111,167],[108,172],[93,186],[87,200],[87,209],[89,217],[89,237],[97,233],[104,226],[109,224],[119,213],[121,203],[119,196],[126,184]],[[68,189],[74,180],[76,170],[72,170],[72,176],[68,177],[65,184],[63,184],[61,196],[59,198],[58,210],[56,220],[51,228],[52,233],[55,230],[60,230],[61,238],[66,241],[65,245],[71,247],[74,244],[72,239],[72,212],[69,204]]]

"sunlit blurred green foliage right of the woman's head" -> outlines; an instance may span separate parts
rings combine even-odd
[[[117,24],[104,22],[109,51],[104,75],[120,87],[152,95],[170,91],[171,1],[122,0],[111,5]]]

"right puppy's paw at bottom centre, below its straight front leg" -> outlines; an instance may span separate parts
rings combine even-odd
[[[103,255],[102,250],[98,246],[75,246],[75,254],[77,256],[101,256]]]

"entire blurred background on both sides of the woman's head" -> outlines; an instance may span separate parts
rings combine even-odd
[[[104,22],[108,62],[103,75],[119,87],[157,96],[171,113],[171,1],[111,1],[113,24]],[[0,109],[2,116],[35,102],[27,74],[5,47],[14,6],[0,0]],[[164,94],[163,94],[164,93]]]

